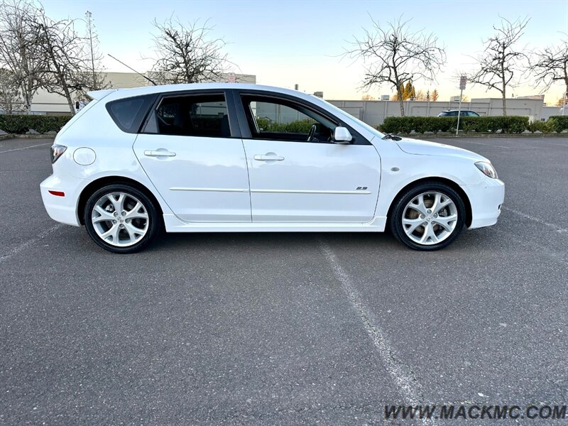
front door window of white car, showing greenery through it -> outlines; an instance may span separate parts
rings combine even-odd
[[[255,139],[330,142],[337,124],[285,99],[243,96],[243,106]]]

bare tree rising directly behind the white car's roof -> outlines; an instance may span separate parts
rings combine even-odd
[[[152,78],[160,84],[197,83],[216,80],[228,71],[225,41],[209,37],[212,28],[199,21],[182,25],[173,18],[153,22],[154,50],[158,59]]]

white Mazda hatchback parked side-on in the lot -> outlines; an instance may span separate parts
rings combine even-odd
[[[50,217],[130,253],[158,231],[384,231],[441,249],[497,222],[484,157],[386,135],[289,89],[179,84],[89,94],[58,133]]]

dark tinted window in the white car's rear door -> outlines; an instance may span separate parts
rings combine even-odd
[[[153,119],[163,135],[231,137],[224,94],[166,97]]]

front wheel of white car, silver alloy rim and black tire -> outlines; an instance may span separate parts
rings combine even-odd
[[[457,239],[465,224],[459,194],[439,182],[424,182],[400,195],[390,217],[393,235],[415,250],[443,249]]]

